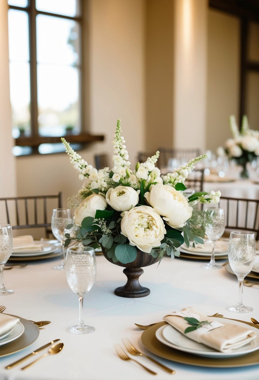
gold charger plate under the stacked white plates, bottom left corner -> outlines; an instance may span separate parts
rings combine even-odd
[[[11,315],[11,314],[8,314]],[[33,322],[27,319],[11,315],[12,317],[20,318],[21,323],[24,325],[23,334],[10,343],[0,346],[0,357],[14,354],[18,351],[24,350],[29,347],[39,336],[39,328]]]

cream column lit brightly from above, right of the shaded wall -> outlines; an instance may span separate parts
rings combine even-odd
[[[174,1],[174,147],[205,149],[207,0]]]

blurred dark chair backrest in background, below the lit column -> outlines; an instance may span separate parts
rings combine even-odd
[[[192,158],[197,157],[201,154],[199,148],[158,148],[160,151],[160,165],[161,168],[166,168],[168,165],[169,158],[184,158],[190,161]]]

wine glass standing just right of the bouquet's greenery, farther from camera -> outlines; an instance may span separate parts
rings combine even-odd
[[[212,254],[210,262],[203,266],[206,269],[222,268],[215,263],[216,241],[223,235],[225,230],[225,211],[224,209],[207,208],[205,221],[205,234],[212,242]]]

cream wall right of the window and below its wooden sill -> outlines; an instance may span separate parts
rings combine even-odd
[[[95,153],[112,155],[111,142],[121,119],[130,160],[135,163],[136,152],[144,144],[144,2],[90,0],[88,12],[91,101],[85,107],[90,109],[90,131],[104,134],[105,141],[80,154],[93,165]],[[16,161],[19,195],[61,190],[65,205],[82,186],[65,152],[17,157]]]

